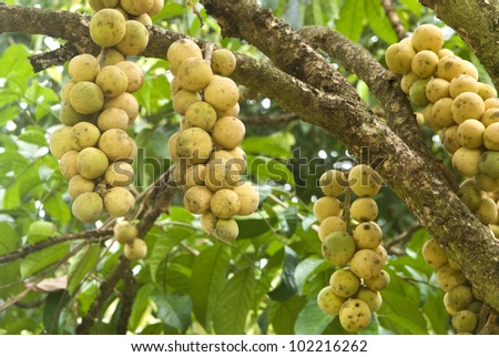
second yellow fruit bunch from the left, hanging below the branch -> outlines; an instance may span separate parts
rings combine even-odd
[[[173,108],[183,115],[181,130],[167,145],[175,163],[173,181],[185,191],[184,206],[202,215],[206,234],[230,242],[238,235],[233,216],[252,214],[259,200],[256,187],[241,180],[246,170],[240,146],[245,126],[237,119],[237,85],[226,78],[236,58],[225,49],[210,54],[210,61],[205,60],[189,39],[177,40],[167,50],[174,75]]]

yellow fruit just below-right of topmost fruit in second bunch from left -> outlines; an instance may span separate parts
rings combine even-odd
[[[176,71],[180,86],[187,91],[200,91],[213,79],[210,64],[200,58],[185,59]]]

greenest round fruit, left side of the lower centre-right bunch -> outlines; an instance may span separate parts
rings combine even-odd
[[[355,254],[354,238],[347,232],[333,232],[323,242],[324,258],[333,265],[345,265]]]

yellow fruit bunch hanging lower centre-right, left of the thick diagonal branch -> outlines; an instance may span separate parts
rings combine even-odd
[[[389,283],[389,275],[383,269],[387,261],[383,233],[374,222],[378,206],[373,196],[379,192],[381,178],[370,166],[359,164],[348,174],[327,171],[319,184],[326,196],[316,201],[314,214],[320,222],[323,256],[334,266],[348,267],[333,273],[329,285],[318,294],[317,304],[324,313],[339,315],[342,326],[356,333],[369,325],[371,313],[381,306],[379,290]],[[348,206],[337,198],[345,191],[346,197],[352,193],[357,196]]]

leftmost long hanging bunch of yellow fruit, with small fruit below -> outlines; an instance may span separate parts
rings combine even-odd
[[[103,214],[126,216],[135,204],[130,185],[138,147],[126,130],[139,115],[132,93],[142,86],[144,75],[125,57],[146,48],[145,26],[152,24],[151,16],[159,13],[163,0],[96,0],[90,4],[96,11],[90,35],[102,51],[99,57],[83,53],[70,61],[71,80],[60,93],[62,126],[50,137],[50,150],[69,180],[72,213],[84,223]],[[128,257],[145,255],[136,232],[118,241],[126,243]]]

